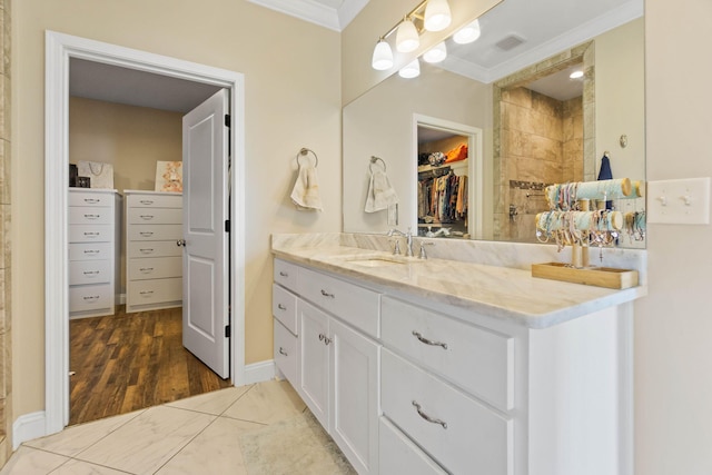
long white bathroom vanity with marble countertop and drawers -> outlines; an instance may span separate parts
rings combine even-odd
[[[273,238],[275,362],[358,473],[630,472],[644,286],[318,239]]]

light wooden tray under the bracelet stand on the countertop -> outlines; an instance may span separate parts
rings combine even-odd
[[[532,277],[566,283],[623,289],[637,285],[637,270],[613,267],[586,267],[576,269],[562,263],[532,264]]]

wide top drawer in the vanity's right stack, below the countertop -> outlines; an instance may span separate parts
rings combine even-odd
[[[392,297],[383,298],[380,311],[386,347],[501,409],[513,408],[514,338]]]

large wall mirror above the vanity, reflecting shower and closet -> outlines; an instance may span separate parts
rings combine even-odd
[[[421,61],[419,77],[392,75],[344,108],[346,232],[536,243],[546,185],[595,180],[604,154],[614,178],[644,180],[642,1],[505,0],[479,23],[476,42],[446,41],[444,63]],[[398,205],[365,212],[382,165]],[[433,202],[444,186],[452,198]],[[644,198],[614,207],[642,212]]]

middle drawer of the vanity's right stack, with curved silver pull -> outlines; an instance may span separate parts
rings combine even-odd
[[[384,415],[448,472],[507,475],[513,469],[511,419],[387,349],[380,388]]]

